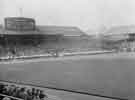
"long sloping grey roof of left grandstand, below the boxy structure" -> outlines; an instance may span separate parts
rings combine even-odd
[[[35,31],[12,31],[5,30],[0,26],[0,34],[46,34],[46,35],[64,35],[64,36],[82,36],[86,35],[77,27],[72,26],[36,26]]]

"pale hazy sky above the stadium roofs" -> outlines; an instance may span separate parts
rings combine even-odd
[[[4,17],[36,19],[38,25],[77,26],[82,30],[135,24],[135,0],[0,0]]]

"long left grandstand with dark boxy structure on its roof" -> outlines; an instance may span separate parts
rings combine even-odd
[[[0,27],[1,57],[48,53],[54,56],[63,50],[99,49],[99,45],[77,27],[40,26],[34,19],[23,17],[7,17],[4,25]]]

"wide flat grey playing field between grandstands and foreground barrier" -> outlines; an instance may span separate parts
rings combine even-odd
[[[0,80],[131,99],[135,96],[135,54],[103,54],[0,64]]]

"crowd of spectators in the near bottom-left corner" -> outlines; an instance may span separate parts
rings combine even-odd
[[[20,85],[5,84],[5,83],[0,83],[0,94],[12,96],[21,100],[45,100],[47,98],[47,95],[44,93],[44,90],[33,87],[24,87]],[[0,95],[0,97],[3,96]],[[15,99],[4,97],[1,100],[15,100]]]

